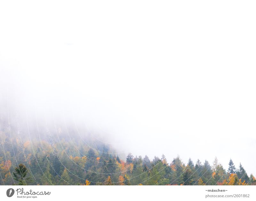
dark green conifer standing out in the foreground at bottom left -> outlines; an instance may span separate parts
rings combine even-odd
[[[17,185],[28,185],[33,182],[32,179],[27,176],[28,169],[25,165],[21,164],[15,168],[15,172],[13,172],[14,180],[18,182]]]

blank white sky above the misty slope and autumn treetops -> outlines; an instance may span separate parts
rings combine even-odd
[[[255,18],[253,1],[5,1],[1,79],[119,150],[255,175]]]

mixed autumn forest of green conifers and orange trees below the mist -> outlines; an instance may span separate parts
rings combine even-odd
[[[236,168],[230,159],[228,169],[215,158],[182,162],[179,156],[170,164],[164,154],[133,156],[122,159],[111,154],[104,144],[90,147],[82,140],[64,137],[53,142],[26,140],[8,136],[2,130],[0,139],[1,185],[255,185],[240,163]]]

